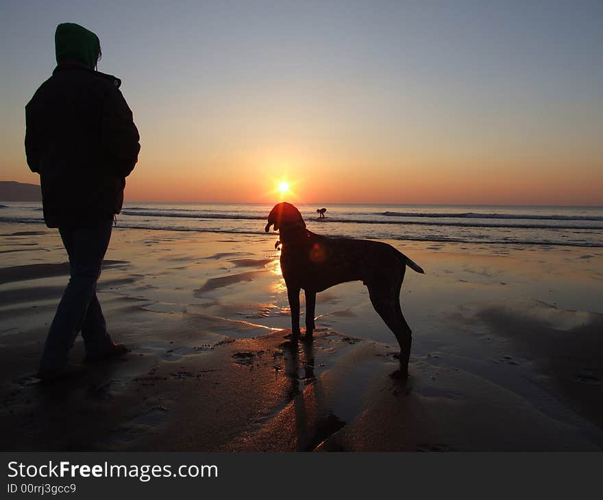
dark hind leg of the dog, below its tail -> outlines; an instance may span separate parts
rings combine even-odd
[[[369,297],[377,314],[381,316],[384,323],[391,329],[400,346],[400,368],[402,373],[408,375],[408,360],[410,359],[410,348],[413,337],[410,327],[400,308],[400,289],[402,288],[402,277],[393,284],[389,280],[382,279],[378,282],[367,283]]]

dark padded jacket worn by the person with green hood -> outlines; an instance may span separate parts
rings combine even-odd
[[[60,62],[25,106],[27,164],[40,174],[48,227],[119,214],[140,151],[120,84],[75,60]]]

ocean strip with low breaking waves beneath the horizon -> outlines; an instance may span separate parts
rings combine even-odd
[[[326,208],[318,218],[317,208]],[[264,234],[272,205],[126,203],[119,228]],[[326,236],[423,242],[603,247],[603,207],[475,205],[297,205]],[[0,223],[41,224],[41,203],[2,202]]]

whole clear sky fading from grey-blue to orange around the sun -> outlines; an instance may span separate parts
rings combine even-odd
[[[601,5],[24,5],[0,19],[0,180],[38,183],[23,107],[69,18],[140,130],[126,201],[287,179],[298,203],[603,205]]]

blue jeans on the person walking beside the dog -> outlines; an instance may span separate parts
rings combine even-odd
[[[112,221],[101,221],[86,229],[59,228],[69,255],[71,278],[50,326],[40,371],[65,366],[80,331],[88,355],[98,355],[112,347],[96,293],[111,229]]]

